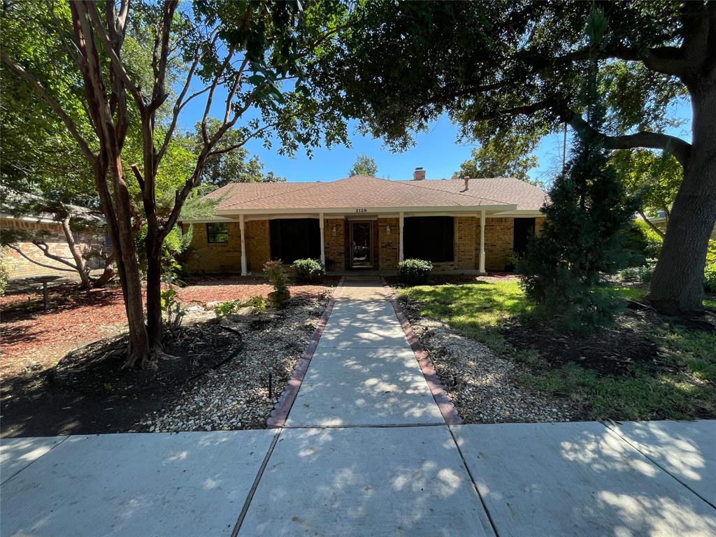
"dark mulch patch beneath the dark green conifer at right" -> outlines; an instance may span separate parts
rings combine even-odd
[[[629,312],[644,316],[643,312]],[[669,357],[651,339],[619,325],[594,334],[563,334],[539,323],[509,324],[503,328],[508,343],[521,350],[536,349],[551,367],[579,364],[597,374],[623,374],[638,365],[647,369],[672,367]]]

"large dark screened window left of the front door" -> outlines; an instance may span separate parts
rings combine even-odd
[[[309,257],[321,257],[321,228],[317,218],[271,221],[271,259],[293,263]]]

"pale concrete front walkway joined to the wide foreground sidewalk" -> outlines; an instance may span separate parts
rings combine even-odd
[[[0,535],[716,535],[715,420],[445,425],[369,283],[286,427],[2,440]]]

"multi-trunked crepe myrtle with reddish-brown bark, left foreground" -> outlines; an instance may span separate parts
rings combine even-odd
[[[157,367],[163,356],[160,300],[161,253],[165,236],[175,226],[185,200],[200,182],[206,161],[238,149],[252,138],[281,142],[280,151],[345,140],[345,126],[314,98],[302,77],[301,63],[335,33],[344,6],[299,1],[132,2],[130,0],[70,1],[72,42],[82,75],[85,112],[92,139],[77,128],[74,111],[64,110],[37,74],[21,60],[2,61],[48,102],[92,165],[105,214],[129,323],[125,367]],[[61,24],[59,19],[54,19]],[[137,31],[140,29],[140,31]],[[125,62],[127,34],[152,51],[152,77],[135,77]],[[169,75],[176,79],[168,87]],[[171,89],[175,89],[172,95]],[[172,95],[172,102],[168,98]],[[189,103],[203,103],[201,147],[193,170],[175,193],[164,217],[157,207],[158,167],[177,132],[180,115]],[[218,114],[218,122],[210,118]],[[125,175],[123,147],[130,122],[141,131],[142,158]],[[219,146],[230,130],[241,136],[233,145]],[[130,199],[130,181],[141,191],[143,214]],[[147,226],[145,241],[146,321],[142,282],[132,226]]]

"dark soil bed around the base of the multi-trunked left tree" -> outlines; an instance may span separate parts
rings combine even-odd
[[[6,379],[0,437],[126,432],[190,379],[238,354],[241,338],[215,321],[186,326],[156,371],[121,369],[123,337],[68,354],[42,372]],[[110,353],[110,354],[107,354]]]

